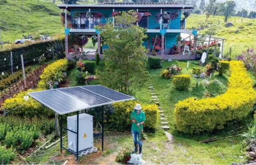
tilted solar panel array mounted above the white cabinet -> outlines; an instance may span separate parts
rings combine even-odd
[[[59,88],[28,94],[61,115],[114,102],[134,100],[134,97],[101,85]]]

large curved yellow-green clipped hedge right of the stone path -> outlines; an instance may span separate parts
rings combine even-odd
[[[175,107],[175,124],[178,131],[199,133],[223,129],[230,120],[240,120],[248,115],[256,101],[252,80],[244,63],[230,62],[229,88],[215,98],[179,101]]]

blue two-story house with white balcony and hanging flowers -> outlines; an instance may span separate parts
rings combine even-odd
[[[140,27],[147,29],[146,35],[149,41],[143,45],[152,52],[152,38],[158,36],[161,50],[158,56],[163,59],[170,58],[171,48],[177,45],[177,36],[181,33],[197,35],[196,30],[186,29],[186,18],[182,14],[186,9],[192,9],[193,5],[183,5],[179,3],[103,3],[93,5],[58,5],[65,11],[65,44],[66,57],[71,59],[72,55],[68,52],[68,34],[98,36],[98,53],[100,54],[100,32],[94,29],[95,26],[104,26],[110,19],[115,25],[115,13],[134,10],[140,13],[141,20],[137,23]],[[67,14],[67,11],[70,12]],[[79,14],[76,14],[79,13]],[[156,17],[156,16],[159,17]],[[72,17],[70,17],[72,16]],[[167,17],[166,17],[167,16]],[[195,41],[194,41],[195,42]],[[195,44],[194,44],[195,45]],[[195,47],[195,46],[194,46]],[[195,50],[195,48],[194,48]],[[176,58],[175,58],[176,57]],[[174,56],[172,59],[193,59],[192,56]]]

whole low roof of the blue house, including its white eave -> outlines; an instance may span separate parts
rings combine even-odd
[[[148,8],[176,8],[176,9],[193,9],[193,5],[183,5],[172,2],[132,2],[132,3],[101,3],[91,5],[57,5],[61,9],[77,9],[77,8],[130,8],[130,9],[148,9]]]

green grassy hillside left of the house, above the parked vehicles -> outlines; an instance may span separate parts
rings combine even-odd
[[[56,35],[64,34],[61,10],[49,1],[0,0],[1,41],[15,41],[22,33]],[[22,6],[22,7],[21,7]]]

